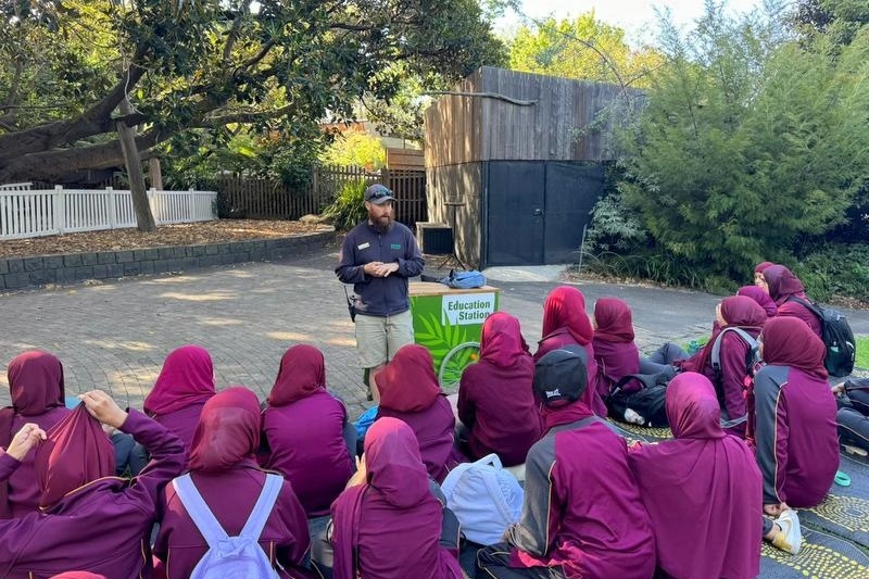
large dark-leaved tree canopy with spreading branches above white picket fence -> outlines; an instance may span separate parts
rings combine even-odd
[[[390,65],[455,79],[501,48],[476,0],[15,0],[0,18],[0,182],[122,164],[118,119],[143,151],[310,126],[389,99]]]

